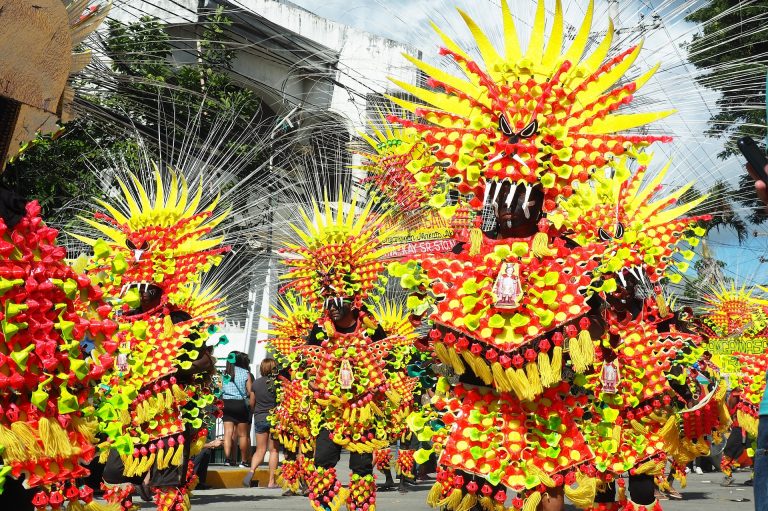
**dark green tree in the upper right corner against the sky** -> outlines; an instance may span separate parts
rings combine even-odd
[[[725,137],[726,158],[738,154],[736,140],[749,135],[758,143],[766,137],[766,71],[768,71],[768,0],[712,0],[686,17],[702,23],[701,32],[687,46],[690,62],[702,71],[701,85],[721,93],[707,135]],[[768,219],[744,173],[738,201],[751,209],[747,220]]]

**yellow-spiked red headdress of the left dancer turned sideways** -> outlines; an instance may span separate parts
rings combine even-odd
[[[125,201],[122,211],[96,200],[108,214],[96,213],[95,220],[81,220],[103,234],[106,241],[73,234],[93,247],[98,269],[111,277],[106,291],[112,296],[151,284],[164,291],[166,300],[182,286],[197,282],[202,272],[217,265],[221,254],[228,250],[221,246],[223,237],[212,234],[228,213],[215,212],[218,197],[202,206],[202,182],[190,197],[184,176],[172,170],[168,174],[170,183],[166,186],[155,169],[153,200],[134,174],[130,174],[130,180],[135,194],[126,183],[118,181]]]

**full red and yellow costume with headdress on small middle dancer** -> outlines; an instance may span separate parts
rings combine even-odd
[[[397,330],[387,333],[364,303],[370,300],[373,308],[378,301],[375,293],[385,281],[382,257],[391,250],[374,231],[372,203],[358,215],[354,201],[349,213],[341,200],[336,212],[328,202],[324,207],[321,213],[314,205],[312,220],[301,211],[305,226],[294,227],[301,243],[282,249],[289,268],[281,277],[289,281],[284,289],[323,314],[299,348],[317,406],[310,500],[317,510],[335,510],[345,501],[349,509],[374,509],[372,453],[389,445],[391,418],[404,422],[407,415],[402,404],[408,396],[401,394],[407,385],[400,373],[405,371],[402,353],[413,340]],[[347,325],[341,319],[351,321]],[[342,447],[351,453],[348,489],[335,472]]]

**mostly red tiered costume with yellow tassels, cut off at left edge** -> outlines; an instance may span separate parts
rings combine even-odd
[[[13,228],[0,220],[0,491],[6,477],[25,476],[33,505],[57,509],[92,499],[76,480],[96,452],[87,403],[112,364],[117,324],[98,286],[65,264],[37,202],[22,214]]]

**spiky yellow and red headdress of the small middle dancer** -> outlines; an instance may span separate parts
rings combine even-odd
[[[313,202],[314,219],[303,208],[299,213],[304,228],[291,224],[302,243],[286,243],[280,251],[282,263],[289,271],[280,278],[288,280],[284,289],[294,289],[311,306],[322,308],[328,300],[353,300],[362,305],[368,295],[381,288],[386,269],[383,256],[392,247],[381,245],[377,228],[387,214],[374,216],[373,202],[369,201],[359,214],[355,214],[357,202],[352,201],[349,211],[341,200],[336,204],[336,214],[331,203],[325,201],[325,211]],[[375,220],[374,220],[375,218]]]

